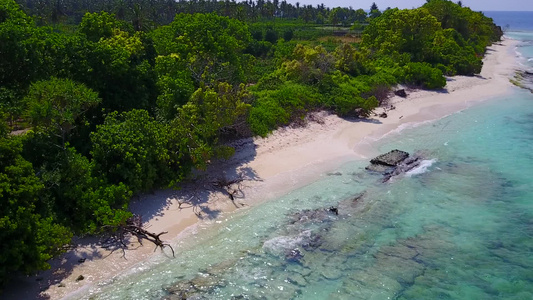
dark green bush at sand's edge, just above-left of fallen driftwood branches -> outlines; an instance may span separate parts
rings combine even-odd
[[[105,178],[94,176],[94,164],[73,148],[56,155],[40,170],[48,187],[41,205],[47,206],[49,214],[81,233],[126,221],[131,215],[124,211],[131,197],[126,185],[110,185]]]

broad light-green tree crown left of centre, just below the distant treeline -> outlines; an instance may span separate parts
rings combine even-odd
[[[246,24],[215,14],[178,14],[151,36],[160,55],[178,55],[197,84],[242,81],[251,41]]]

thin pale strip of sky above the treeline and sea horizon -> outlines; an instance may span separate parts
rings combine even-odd
[[[454,0],[455,1],[455,0]],[[376,2],[380,10],[387,7],[415,8],[422,6],[426,0],[287,0],[287,2],[300,5],[324,3],[328,7],[363,8],[368,10],[372,2]],[[463,0],[463,6],[468,6],[475,11],[533,11],[533,0]]]

